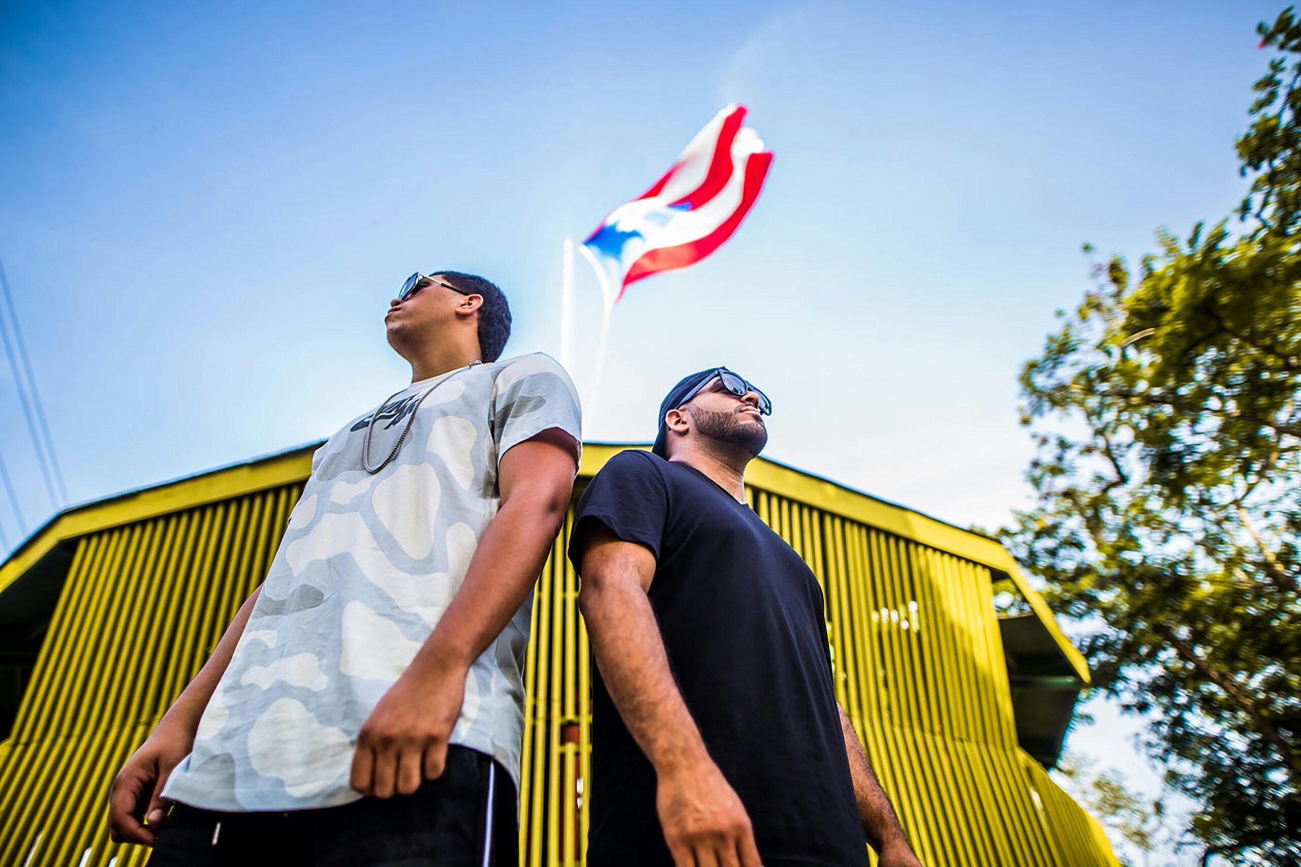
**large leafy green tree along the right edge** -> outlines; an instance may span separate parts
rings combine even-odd
[[[1259,33],[1237,219],[1094,266],[1059,311],[1020,380],[1037,505],[1000,536],[1095,626],[1203,862],[1301,864],[1301,25]]]

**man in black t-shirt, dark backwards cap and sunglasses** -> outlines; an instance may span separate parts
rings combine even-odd
[[[745,504],[762,392],[723,367],[660,406],[578,505],[591,867],[920,867],[837,704],[822,591]]]

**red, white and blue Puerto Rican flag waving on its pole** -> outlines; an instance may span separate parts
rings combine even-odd
[[[744,120],[743,105],[718,112],[654,186],[583,242],[614,276],[618,298],[630,282],[696,264],[745,219],[773,155]]]

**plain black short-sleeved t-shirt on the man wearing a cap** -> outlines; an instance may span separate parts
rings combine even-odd
[[[654,553],[648,596],[710,758],[766,867],[869,863],[831,682],[822,591],[786,542],[709,476],[649,452],[614,456],[578,504]],[[575,564],[576,565],[576,564]],[[656,773],[592,667],[588,864],[671,864]]]

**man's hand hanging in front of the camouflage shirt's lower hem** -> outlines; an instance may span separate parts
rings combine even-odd
[[[461,717],[468,668],[441,665],[425,672],[412,664],[371,711],[356,736],[351,786],[389,798],[411,794],[437,780],[448,762],[448,742]]]

